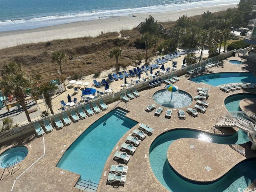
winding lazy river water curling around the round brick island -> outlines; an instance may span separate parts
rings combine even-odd
[[[150,146],[149,160],[156,178],[168,190],[172,192],[235,192],[238,188],[246,188],[256,178],[256,173],[252,171],[256,168],[256,160],[242,162],[223,178],[210,184],[192,183],[180,178],[167,161],[168,147],[174,140],[180,138],[210,138],[211,142],[219,144],[242,144],[249,141],[246,133],[241,130],[231,136],[216,136],[202,134],[196,130],[176,129],[158,136]]]

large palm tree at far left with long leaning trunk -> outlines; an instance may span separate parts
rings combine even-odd
[[[22,70],[16,72],[15,74],[6,73],[4,74],[2,80],[0,80],[0,87],[3,90],[4,96],[8,97],[12,94],[17,99],[18,103],[23,107],[28,122],[31,122],[31,119],[26,107],[25,90],[31,85],[31,80],[24,75]]]

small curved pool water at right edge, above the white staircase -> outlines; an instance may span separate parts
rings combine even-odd
[[[256,95],[236,94],[236,95],[228,96],[224,101],[226,109],[228,111],[241,111],[241,108],[239,107],[239,103],[241,100],[245,98],[256,98]]]

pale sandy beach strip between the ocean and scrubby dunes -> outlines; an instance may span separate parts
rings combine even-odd
[[[0,49],[14,47],[21,44],[30,44],[38,42],[48,42],[52,40],[60,40],[67,38],[79,38],[84,36],[96,37],[102,33],[120,32],[121,30],[131,30],[138,26],[140,22],[144,22],[149,15],[153,16],[155,21],[167,22],[175,21],[180,16],[200,15],[207,10],[211,12],[218,12],[226,10],[227,8],[236,7],[235,4],[227,4],[220,6],[206,6],[198,8],[186,8],[172,12],[152,12],[132,14],[129,16],[114,16],[113,18],[98,19],[91,21],[72,22],[68,24],[60,24],[54,26],[47,26],[28,30],[15,30],[0,32]]]

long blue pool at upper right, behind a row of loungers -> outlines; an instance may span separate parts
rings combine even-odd
[[[248,72],[224,72],[224,73],[213,73],[197,76],[190,79],[196,83],[206,83],[211,86],[219,86],[228,83],[240,83],[240,82],[256,82],[256,78],[252,73]]]

